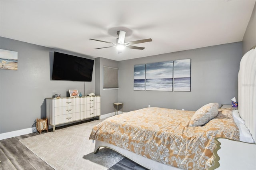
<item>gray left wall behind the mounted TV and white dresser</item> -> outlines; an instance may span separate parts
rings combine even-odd
[[[94,73],[85,91],[84,82],[50,80],[54,51],[93,58],[3,37],[0,42],[1,49],[18,51],[18,70],[0,69],[0,133],[34,127],[36,118],[46,117],[46,97],[64,97],[68,89],[95,91]]]

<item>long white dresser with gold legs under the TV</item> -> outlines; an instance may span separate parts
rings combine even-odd
[[[56,125],[99,117],[100,96],[46,98],[48,124]]]

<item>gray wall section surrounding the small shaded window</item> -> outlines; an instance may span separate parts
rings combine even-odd
[[[114,102],[118,102],[118,90],[103,90],[103,66],[118,68],[118,61],[98,57],[96,63],[96,93],[101,96],[101,115],[114,112]]]

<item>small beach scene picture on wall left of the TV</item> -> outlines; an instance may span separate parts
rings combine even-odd
[[[18,70],[18,52],[0,49],[0,69]]]

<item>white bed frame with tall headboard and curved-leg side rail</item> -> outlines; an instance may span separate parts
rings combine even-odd
[[[254,47],[255,48],[255,47]],[[256,141],[256,49],[251,49],[242,57],[240,70],[238,73],[238,109],[246,127],[250,130],[254,142]],[[254,105],[253,105],[254,103]],[[124,155],[130,160],[140,164],[150,170],[178,170],[174,166],[169,166],[145,158],[118,146],[96,140],[94,153],[97,153],[100,147],[110,148]]]

